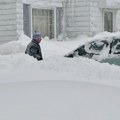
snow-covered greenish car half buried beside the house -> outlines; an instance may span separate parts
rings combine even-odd
[[[65,55],[65,57],[73,58],[83,56],[92,58],[100,62],[117,63],[120,60],[120,37],[106,37],[104,39],[94,39],[87,42],[72,52]]]

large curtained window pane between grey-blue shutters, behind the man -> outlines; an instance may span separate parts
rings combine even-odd
[[[42,37],[54,38],[54,10],[33,8],[32,30],[39,31]]]

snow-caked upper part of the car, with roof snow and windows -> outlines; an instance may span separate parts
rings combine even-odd
[[[101,61],[106,58],[120,55],[120,32],[103,32],[95,35],[90,41],[80,44],[79,47],[69,52],[65,57],[83,56]]]

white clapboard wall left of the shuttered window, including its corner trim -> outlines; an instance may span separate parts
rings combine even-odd
[[[0,0],[0,44],[18,40],[23,32],[21,0]]]

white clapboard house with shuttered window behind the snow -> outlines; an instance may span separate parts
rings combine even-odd
[[[0,43],[35,30],[51,39],[118,31],[119,6],[107,0],[0,0]]]

